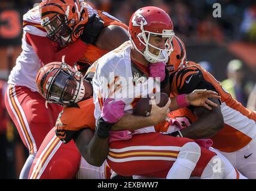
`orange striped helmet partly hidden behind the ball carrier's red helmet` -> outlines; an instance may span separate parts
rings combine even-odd
[[[184,43],[177,36],[172,38],[173,51],[167,62],[169,75],[176,72],[179,68],[184,67],[187,61],[186,49]]]

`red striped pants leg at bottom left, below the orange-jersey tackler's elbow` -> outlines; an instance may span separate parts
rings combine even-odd
[[[62,143],[54,130],[52,128],[39,147],[29,179],[71,179],[77,175],[81,155],[74,141]]]

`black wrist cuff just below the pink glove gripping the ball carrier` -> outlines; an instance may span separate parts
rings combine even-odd
[[[96,131],[98,137],[99,138],[106,138],[106,137],[108,137],[109,131],[111,130],[112,125],[114,125],[114,124],[105,122],[102,117],[97,119],[95,131]]]

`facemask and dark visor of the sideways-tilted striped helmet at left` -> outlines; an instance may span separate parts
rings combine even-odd
[[[62,106],[77,103],[85,94],[81,73],[70,70],[66,63],[62,63],[54,75],[48,79],[45,88],[48,103],[57,103]]]

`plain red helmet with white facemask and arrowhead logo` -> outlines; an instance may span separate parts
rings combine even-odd
[[[143,7],[135,11],[130,18],[129,35],[133,46],[150,63],[166,62],[172,52],[172,44],[170,43],[174,35],[172,20],[160,8]],[[151,35],[160,35],[162,38],[167,38],[165,42],[166,48],[161,49],[150,44],[148,41]],[[149,46],[159,50],[159,55],[150,53]]]

